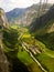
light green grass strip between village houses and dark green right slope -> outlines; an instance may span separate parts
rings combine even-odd
[[[46,45],[39,40],[36,40],[36,43],[40,45],[40,48],[42,48],[44,50],[45,54],[47,54],[51,58],[54,58],[54,51],[53,50],[50,50],[48,48],[46,48]]]

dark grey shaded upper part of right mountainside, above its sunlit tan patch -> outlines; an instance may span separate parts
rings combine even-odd
[[[51,22],[51,23],[50,23]],[[54,4],[50,8],[50,10],[43,14],[42,17],[35,19],[34,22],[30,25],[30,31],[43,31],[45,28],[48,29],[50,25],[54,22]]]

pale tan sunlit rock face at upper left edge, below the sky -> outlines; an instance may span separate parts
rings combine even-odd
[[[0,29],[8,28],[8,20],[6,18],[4,10],[0,8]]]

